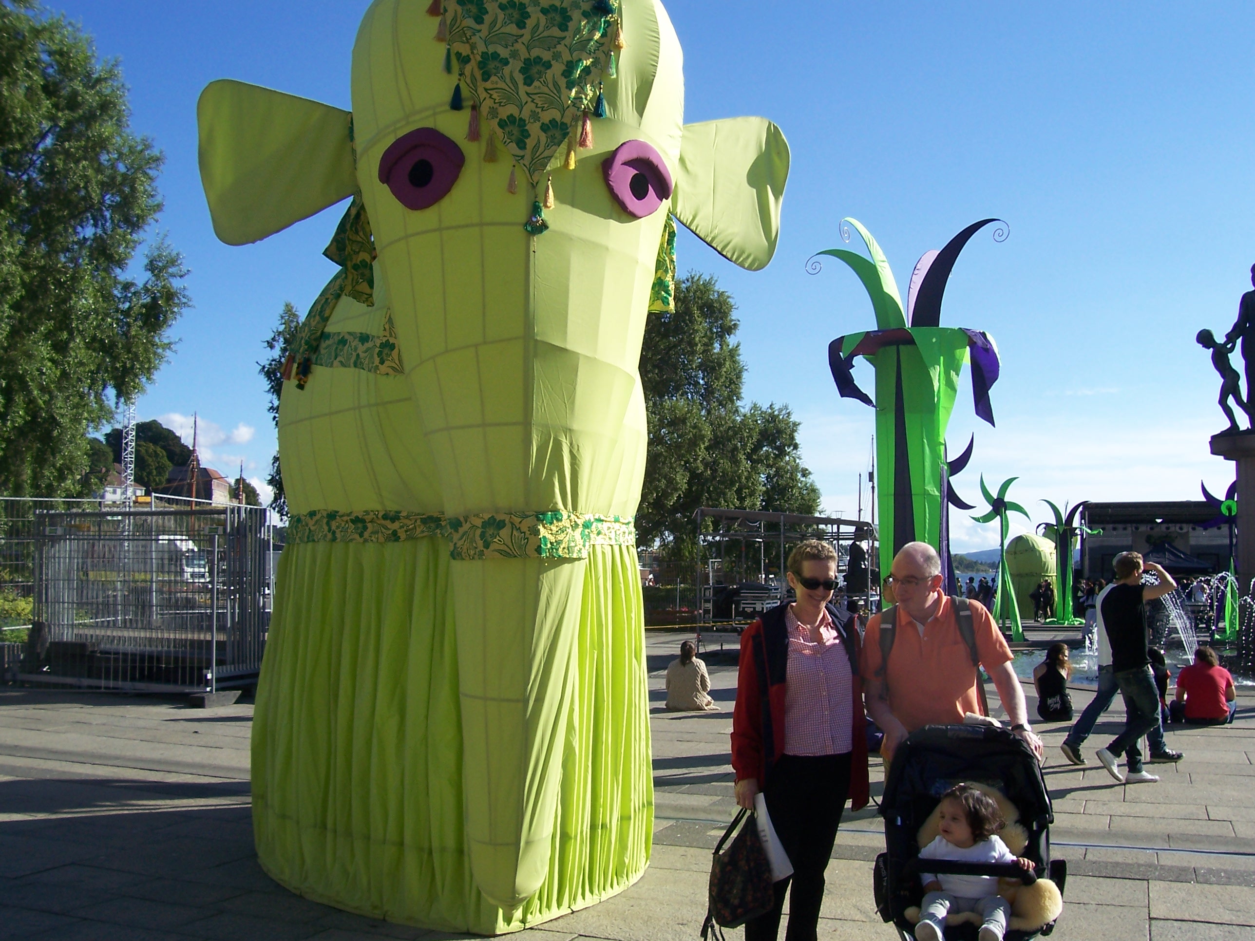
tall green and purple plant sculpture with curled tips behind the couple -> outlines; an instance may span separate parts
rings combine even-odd
[[[941,326],[941,297],[959,252],[980,228],[999,220],[974,222],[941,251],[926,252],[911,275],[904,307],[889,260],[871,233],[852,218],[870,258],[845,248],[818,252],[807,268],[820,270],[818,255],[846,262],[862,281],[876,312],[876,330],[838,336],[828,345],[828,368],[842,398],[858,399],[876,409],[876,465],[881,468],[880,571],[887,573],[894,556],[907,542],[927,542],[941,555],[943,572],[954,593],[948,531],[949,507],[973,507],[950,489],[949,478],[971,457],[948,460],[945,429],[954,410],[963,366],[971,360],[975,412],[994,424],[989,389],[998,381],[998,348],[989,334]],[[842,235],[848,241],[848,231]],[[1005,227],[994,238],[1007,237]],[[853,378],[856,356],[876,369],[876,396],[868,396]]]

